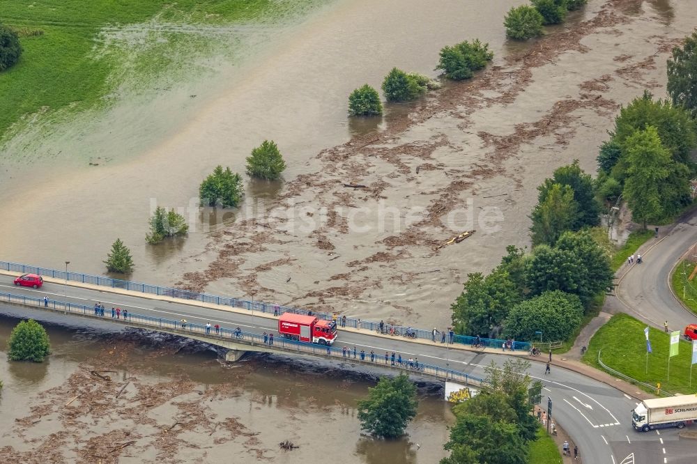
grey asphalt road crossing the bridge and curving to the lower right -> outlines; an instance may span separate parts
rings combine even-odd
[[[48,295],[52,300],[63,300],[67,291],[67,300],[88,305],[100,301],[105,304],[107,311],[112,306],[118,306],[121,309],[127,308],[132,313],[153,317],[174,320],[185,318],[191,323],[210,322],[231,328],[240,326],[247,332],[275,330],[276,325],[274,319],[259,315],[151,300],[137,294],[120,295],[73,286],[68,286],[66,290],[63,285],[48,282],[38,291],[17,288],[12,285],[12,278],[5,275],[0,276],[0,289],[35,297]],[[13,307],[6,310],[12,312]],[[106,318],[107,321],[110,319]],[[421,362],[450,366],[480,377],[485,376],[484,366],[491,361],[500,364],[507,359],[505,355],[447,349],[440,343],[411,343],[404,337],[376,337],[376,334],[367,331],[340,332],[337,346],[343,345],[355,345],[358,350],[363,348],[367,353],[374,350],[383,355],[385,351],[395,350],[402,357],[418,357]],[[619,464],[632,453],[634,460],[624,461],[625,463],[663,463],[665,456],[671,456],[671,449],[680,446],[676,431],[664,431],[659,437],[654,432],[637,433],[632,430],[629,411],[634,408],[636,401],[613,387],[567,369],[553,368],[551,374],[545,376],[544,364],[539,362],[533,363],[530,374],[544,382],[543,394],[549,395],[553,400],[553,417],[574,438],[586,463]],[[546,398],[543,403],[546,404]],[[659,443],[660,438],[666,444]],[[668,442],[671,444],[667,444]],[[694,445],[694,442],[691,444]],[[666,449],[667,454],[662,449]],[[671,458],[669,462],[688,461]]]

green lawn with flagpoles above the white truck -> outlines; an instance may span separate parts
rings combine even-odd
[[[652,353],[648,355],[648,373],[645,371],[645,327],[645,323],[627,314],[616,314],[590,339],[583,362],[602,370],[598,364],[598,351],[602,350],[604,364],[625,376],[650,385],[661,382],[661,388],[668,392],[697,392],[697,369],[694,369],[692,387],[689,386],[691,345],[682,341],[682,337],[678,355],[671,358],[671,378],[668,382],[668,348],[671,337],[661,330],[650,328]],[[682,328],[680,327],[681,332]],[[649,389],[647,391],[651,392]]]

